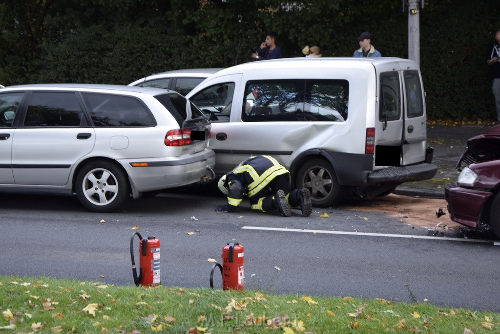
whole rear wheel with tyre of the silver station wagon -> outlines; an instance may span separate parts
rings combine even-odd
[[[94,212],[116,210],[130,195],[125,173],[104,160],[89,162],[78,171],[75,190],[81,204]]]

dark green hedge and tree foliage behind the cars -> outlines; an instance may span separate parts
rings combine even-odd
[[[430,118],[495,116],[486,53],[500,3],[430,1],[420,10]],[[305,45],[350,57],[369,31],[382,56],[406,58],[407,12],[393,0],[3,0],[0,83],[127,84],[180,68],[228,67],[274,31],[285,57]]]

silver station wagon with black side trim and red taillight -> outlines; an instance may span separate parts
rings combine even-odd
[[[180,94],[111,85],[0,91],[0,192],[76,194],[112,211],[130,195],[206,182],[210,124]]]

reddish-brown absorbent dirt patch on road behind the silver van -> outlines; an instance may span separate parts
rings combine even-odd
[[[369,201],[352,201],[337,207],[366,212],[385,212],[412,226],[422,226],[432,229],[445,228],[446,226],[453,229],[461,227],[460,224],[449,219],[444,199],[390,194]],[[440,207],[446,212],[446,215],[437,218],[436,211]]]

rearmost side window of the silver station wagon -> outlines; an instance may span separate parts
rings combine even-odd
[[[155,121],[136,98],[122,95],[81,93],[95,127],[147,127]]]

